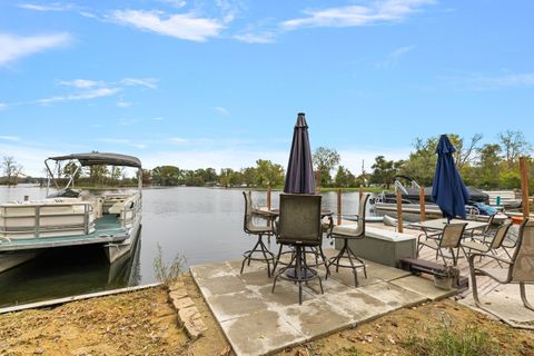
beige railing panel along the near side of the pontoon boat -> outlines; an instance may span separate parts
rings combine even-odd
[[[57,200],[1,205],[0,238],[79,236],[95,231],[95,212],[90,202]]]

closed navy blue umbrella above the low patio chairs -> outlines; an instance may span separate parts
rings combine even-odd
[[[442,209],[443,216],[449,220],[456,216],[465,219],[465,205],[471,198],[454,164],[453,152],[455,151],[448,137],[442,135],[436,148],[437,162],[432,185],[432,198]]]

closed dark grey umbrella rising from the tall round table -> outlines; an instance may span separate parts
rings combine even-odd
[[[309,149],[308,125],[304,112],[298,113],[295,125],[284,192],[315,194],[314,165]]]

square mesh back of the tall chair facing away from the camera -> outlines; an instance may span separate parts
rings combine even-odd
[[[278,240],[320,245],[320,196],[281,194],[278,218]]]

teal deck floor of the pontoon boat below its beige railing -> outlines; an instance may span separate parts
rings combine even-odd
[[[105,215],[95,221],[95,231],[91,234],[10,239],[9,241],[2,239],[0,240],[0,251],[120,243],[127,237],[127,229],[120,226],[118,216]]]

